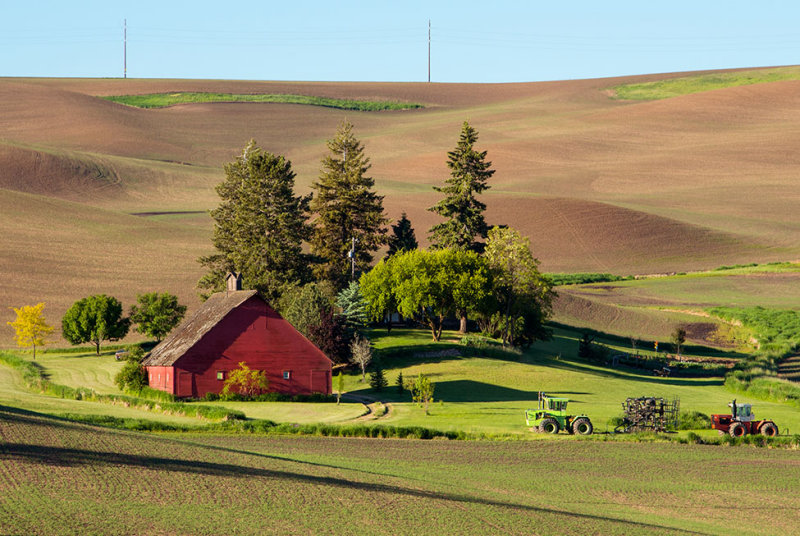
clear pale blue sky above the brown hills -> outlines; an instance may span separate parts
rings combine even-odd
[[[0,76],[526,82],[800,64],[800,3],[0,0]]]

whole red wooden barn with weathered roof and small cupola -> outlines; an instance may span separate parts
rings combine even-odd
[[[270,391],[331,393],[332,362],[284,320],[255,290],[213,294],[144,360],[150,387],[178,397],[219,393],[240,362],[263,370]]]

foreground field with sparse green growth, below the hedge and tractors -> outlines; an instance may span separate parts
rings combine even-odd
[[[791,451],[171,438],[7,408],[0,423],[3,533],[786,534],[800,507]]]

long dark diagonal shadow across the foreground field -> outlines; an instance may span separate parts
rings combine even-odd
[[[654,523],[630,521],[614,517],[567,512],[556,508],[544,508],[526,504],[506,502],[500,500],[475,497],[459,493],[446,493],[441,491],[426,491],[421,489],[407,488],[404,486],[380,484],[374,482],[363,482],[349,480],[347,478],[335,476],[321,476],[303,474],[293,471],[282,471],[252,467],[248,465],[233,463],[206,462],[200,460],[185,460],[177,458],[164,458],[158,456],[147,456],[142,454],[124,454],[118,452],[93,451],[79,448],[64,448],[53,446],[40,446],[24,443],[4,443],[0,445],[0,455],[4,459],[15,462],[28,462],[41,464],[46,467],[76,467],[83,465],[90,466],[114,466],[118,468],[146,468],[154,471],[176,472],[184,474],[194,474],[205,477],[229,477],[229,478],[267,478],[271,480],[283,480],[296,484],[320,485],[326,487],[338,487],[356,489],[367,493],[385,493],[392,495],[405,495],[430,501],[445,501],[454,503],[476,504],[491,507],[508,508],[511,510],[537,512],[550,514],[566,519],[582,519],[586,521],[608,522],[621,524],[625,527],[635,527],[643,530],[670,530],[679,533],[690,534],[691,531],[676,529]],[[241,454],[247,456],[246,453]],[[345,470],[345,469],[339,469]]]

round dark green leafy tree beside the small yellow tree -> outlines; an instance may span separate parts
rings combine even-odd
[[[122,304],[113,296],[96,294],[72,304],[61,319],[61,332],[72,344],[91,342],[100,355],[102,341],[125,337],[130,319],[123,318]]]

